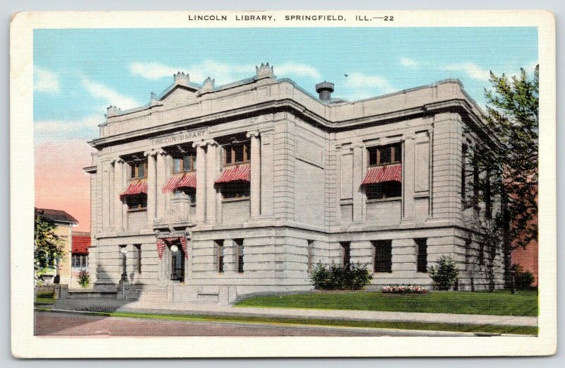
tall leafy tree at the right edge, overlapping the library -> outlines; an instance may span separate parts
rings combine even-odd
[[[539,66],[533,76],[524,69],[511,78],[491,71],[492,89],[485,89],[486,121],[499,144],[468,153],[473,170],[483,173],[475,174],[470,182],[475,203],[485,201],[488,207],[487,193],[501,203],[501,209],[492,215],[487,210],[487,217],[501,230],[506,287],[511,285],[513,249],[525,248],[537,239],[539,73]]]

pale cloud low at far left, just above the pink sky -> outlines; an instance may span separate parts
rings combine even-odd
[[[98,134],[98,124],[103,122],[102,115],[85,117],[79,120],[35,121],[33,134],[37,142],[95,138]]]

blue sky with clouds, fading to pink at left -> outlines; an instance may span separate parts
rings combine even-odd
[[[215,85],[255,75],[268,62],[316,95],[359,100],[458,78],[484,107],[489,71],[537,64],[536,28],[62,29],[34,32],[35,205],[66,210],[90,230],[90,165],[109,105],[145,105],[172,74]]]

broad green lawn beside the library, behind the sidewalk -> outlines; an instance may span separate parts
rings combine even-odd
[[[382,292],[307,292],[293,295],[250,297],[236,307],[354,309],[363,311],[414,311],[423,313],[537,316],[537,291],[429,292],[393,295]]]

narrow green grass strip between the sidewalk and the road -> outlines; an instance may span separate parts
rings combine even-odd
[[[49,309],[38,309],[48,311]],[[160,319],[165,321],[189,322],[232,322],[244,324],[302,325],[302,326],[339,326],[360,328],[391,328],[400,330],[426,330],[468,333],[512,333],[518,335],[537,335],[537,327],[530,326],[493,326],[472,324],[436,324],[420,322],[389,321],[345,321],[328,319],[297,319],[280,317],[250,316],[206,316],[198,314],[146,314],[130,312],[91,312],[94,316],[110,316],[122,318]]]

